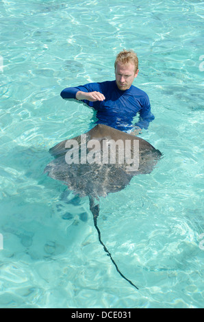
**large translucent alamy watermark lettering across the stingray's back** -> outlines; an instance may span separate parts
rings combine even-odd
[[[133,144],[131,140],[87,141],[86,134],[81,134],[80,148],[74,139],[67,140],[65,147],[69,149],[65,156],[67,164],[125,164],[128,165],[127,171],[138,171],[139,168],[139,140],[133,140]]]

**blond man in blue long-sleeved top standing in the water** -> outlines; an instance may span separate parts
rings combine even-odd
[[[116,56],[114,66],[116,80],[65,88],[61,96],[78,99],[97,110],[97,124],[136,135],[155,119],[146,92],[132,85],[139,72],[138,57],[132,50],[124,49]],[[139,121],[133,125],[133,117],[138,112]]]

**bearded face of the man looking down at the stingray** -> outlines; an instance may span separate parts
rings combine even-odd
[[[138,71],[135,71],[135,66],[129,62],[128,64],[116,64],[116,84],[119,90],[128,90],[133,83],[133,80],[138,76]]]

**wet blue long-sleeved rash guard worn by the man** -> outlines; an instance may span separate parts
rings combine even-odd
[[[65,88],[61,92],[63,99],[75,99],[77,92],[101,92],[104,101],[83,100],[91,108],[97,110],[97,124],[105,124],[123,132],[133,127],[147,129],[149,122],[155,119],[151,113],[149,97],[143,90],[131,85],[127,90],[119,90],[116,81],[89,83],[84,86]],[[133,117],[139,112],[139,121],[132,124]]]

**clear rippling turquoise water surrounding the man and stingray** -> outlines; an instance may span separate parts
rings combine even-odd
[[[203,3],[3,0],[0,13],[0,307],[203,307]],[[124,48],[155,114],[140,136],[164,158],[101,199],[98,225],[138,291],[88,199],[43,175],[49,148],[93,120],[60,91],[114,79]]]

